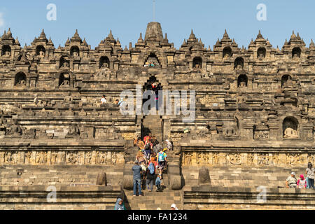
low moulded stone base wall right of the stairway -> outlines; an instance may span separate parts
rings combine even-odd
[[[183,190],[184,209],[200,210],[314,210],[314,193],[311,189],[266,190],[265,200],[256,188],[192,187]]]

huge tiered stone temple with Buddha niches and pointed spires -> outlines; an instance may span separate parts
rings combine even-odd
[[[21,48],[10,29],[0,48],[0,209],[113,209],[118,196],[128,209],[315,209],[313,190],[285,184],[315,158],[313,41],[293,32],[280,50],[259,31],[239,48],[225,31],[205,48],[191,31],[176,49],[151,22],[129,48],[110,32],[93,50],[78,31]],[[195,90],[192,123],[120,113],[120,93],[153,80]],[[148,132],[174,142],[166,188],[132,197],[133,139]]]

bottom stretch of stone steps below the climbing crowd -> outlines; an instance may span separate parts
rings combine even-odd
[[[126,208],[131,210],[156,210],[160,207],[162,210],[169,210],[172,204],[176,204],[178,209],[183,209],[181,190],[169,189],[167,174],[164,174],[163,178],[162,192],[156,192],[155,185],[152,192],[142,190],[144,196],[133,196],[132,190],[125,190]]]

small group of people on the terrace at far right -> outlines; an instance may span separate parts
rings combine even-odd
[[[306,179],[304,178],[303,174],[300,174],[300,179],[297,180],[295,177],[295,172],[292,172],[291,175],[286,179],[286,188],[314,189],[314,172],[315,169],[311,162],[309,162],[305,171]]]

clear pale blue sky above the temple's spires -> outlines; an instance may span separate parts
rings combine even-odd
[[[56,21],[46,19],[49,3],[57,6]],[[256,18],[259,3],[267,6],[266,21]],[[239,47],[247,47],[260,29],[274,48],[281,48],[293,30],[295,34],[300,32],[307,46],[311,38],[315,39],[314,10],[314,0],[156,0],[156,21],[176,48],[188,38],[191,29],[211,48],[217,38],[222,38],[224,29]],[[0,5],[1,33],[10,27],[21,45],[29,45],[45,29],[55,47],[63,46],[78,29],[80,37],[85,37],[94,49],[112,29],[124,48],[130,41],[134,45],[152,20],[153,0],[19,0],[3,1]]]

